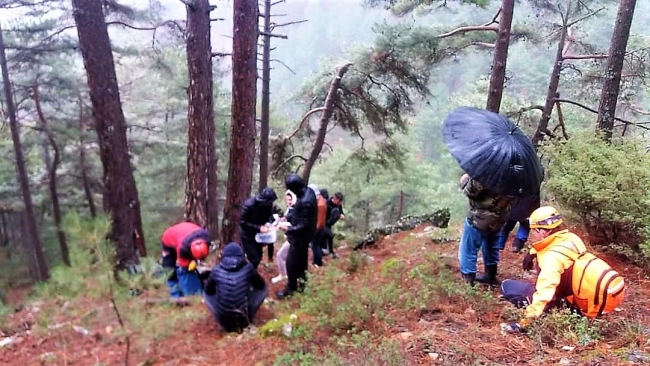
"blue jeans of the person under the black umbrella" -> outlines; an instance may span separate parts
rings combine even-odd
[[[479,249],[483,253],[483,262],[486,266],[499,263],[499,248],[497,247],[498,232],[484,233],[470,225],[465,219],[463,236],[460,238],[458,247],[458,261],[460,262],[460,273],[476,273],[476,258]]]

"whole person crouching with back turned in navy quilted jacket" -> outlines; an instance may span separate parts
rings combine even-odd
[[[241,331],[253,318],[268,294],[262,276],[244,258],[237,243],[223,249],[221,262],[212,268],[203,299],[214,318],[227,332]]]

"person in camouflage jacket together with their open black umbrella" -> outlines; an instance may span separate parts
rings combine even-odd
[[[443,142],[465,174],[460,179],[469,210],[458,248],[463,279],[498,285],[498,234],[519,197],[539,194],[542,166],[530,139],[507,118],[460,107],[443,123]],[[477,276],[483,253],[485,273]]]

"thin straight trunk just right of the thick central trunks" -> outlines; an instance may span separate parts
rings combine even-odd
[[[260,123],[259,191],[268,185],[269,132],[271,125],[271,0],[264,0],[264,48],[262,50],[262,116]]]

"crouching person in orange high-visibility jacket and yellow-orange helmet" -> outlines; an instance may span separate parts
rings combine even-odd
[[[537,282],[505,280],[501,284],[506,299],[526,306],[524,319],[513,329],[530,325],[562,299],[589,318],[612,312],[621,304],[625,295],[623,277],[587,252],[583,241],[566,228],[555,208],[535,210],[530,215],[530,228],[533,244],[524,269],[532,269],[530,258],[536,257]]]

